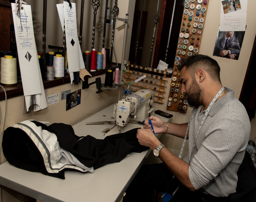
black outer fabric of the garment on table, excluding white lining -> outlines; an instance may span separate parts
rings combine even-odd
[[[83,165],[94,167],[94,169],[120,162],[129,152],[141,153],[149,149],[139,144],[136,137],[138,128],[98,140],[90,135],[85,137],[75,135],[72,126],[67,124],[54,123],[46,126],[37,121],[31,122],[36,126],[41,126],[42,130],[53,132],[61,148],[72,153]],[[8,127],[4,131],[3,153],[11,165],[60,179],[65,179],[64,171],[66,170],[77,171],[63,169],[56,174],[48,173],[41,152],[30,137],[19,128]]]

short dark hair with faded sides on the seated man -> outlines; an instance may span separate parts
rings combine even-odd
[[[195,72],[199,68],[205,70],[212,79],[217,80],[221,83],[221,79],[219,77],[219,72],[221,68],[219,67],[218,62],[209,57],[208,55],[191,55],[181,61],[178,66],[178,70],[181,71],[183,67],[186,66],[187,71],[190,72],[192,77],[195,76]]]

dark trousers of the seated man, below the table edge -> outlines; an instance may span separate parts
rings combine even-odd
[[[175,193],[170,202],[181,201],[204,201],[204,202],[217,202],[217,201],[230,201],[229,197],[214,197],[211,195],[203,194],[200,191],[190,191],[177,178],[173,178],[173,174],[168,170],[165,164],[148,164],[143,165],[135,176],[133,182],[130,184],[126,191],[124,202],[152,202],[153,190],[167,192],[173,194],[174,190],[179,186],[178,191]],[[170,183],[171,182],[171,183]],[[168,187],[169,185],[169,187]],[[168,191],[167,191],[168,189]],[[157,201],[155,201],[157,202]]]

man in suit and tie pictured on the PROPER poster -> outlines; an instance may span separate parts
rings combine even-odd
[[[218,57],[234,59],[240,54],[240,46],[237,38],[233,37],[234,31],[226,32],[224,37],[216,40],[213,55]]]

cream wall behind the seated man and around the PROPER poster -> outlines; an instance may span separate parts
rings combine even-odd
[[[235,98],[239,99],[240,92],[242,89],[243,81],[245,78],[246,69],[248,66],[251,50],[253,47],[253,42],[256,34],[256,26],[254,25],[254,19],[256,18],[256,12],[254,11],[253,0],[248,0],[247,6],[247,18],[246,18],[246,32],[241,48],[241,53],[239,56],[239,60],[231,60],[231,59],[223,59],[220,57],[213,56],[213,50],[215,41],[217,38],[217,33],[219,30],[219,22],[220,22],[220,1],[210,0],[209,6],[207,9],[207,15],[205,20],[205,25],[203,29],[203,35],[200,45],[199,54],[209,55],[213,57],[221,67],[221,82],[223,86],[229,87],[235,91]],[[170,79],[167,82],[167,87],[165,90],[169,92],[170,89]],[[175,111],[166,110],[166,104],[168,102],[168,94],[165,93],[165,98],[163,99],[164,104],[154,104],[154,108],[156,110],[162,110],[167,113],[173,114],[173,118],[171,119],[172,123],[186,123],[189,121],[191,116],[191,108],[187,109],[186,114],[177,113]],[[256,136],[256,121],[252,119],[251,121],[251,134],[250,138],[254,138]],[[178,156],[183,139],[174,136],[161,136],[161,143],[163,143],[167,148],[170,149],[176,156]],[[188,142],[188,141],[187,141]],[[185,145],[182,158],[185,157],[188,151],[187,143]],[[152,152],[146,160],[146,163],[154,163],[161,162],[158,158],[154,158]]]

